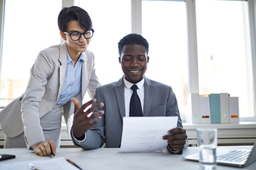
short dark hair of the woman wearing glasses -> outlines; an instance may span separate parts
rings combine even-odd
[[[78,21],[80,28],[90,30],[93,28],[93,22],[85,9],[77,6],[65,7],[58,16],[58,26],[61,32],[67,31],[67,23],[70,21]]]

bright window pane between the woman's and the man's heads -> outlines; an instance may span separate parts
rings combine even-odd
[[[86,9],[95,30],[88,47],[95,56],[95,69],[101,85],[123,76],[118,61],[118,41],[131,33],[130,0],[75,0],[74,5]]]

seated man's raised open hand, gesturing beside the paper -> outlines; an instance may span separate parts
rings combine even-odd
[[[75,105],[74,121],[72,126],[73,134],[77,139],[80,139],[82,136],[84,136],[87,130],[91,129],[95,124],[99,123],[99,121],[101,120],[101,115],[104,114],[104,111],[101,110],[97,113],[93,113],[93,111],[99,110],[104,106],[104,104],[99,103],[85,110],[86,107],[96,102],[95,98],[93,98],[86,104],[83,104],[81,107],[80,107],[80,102],[76,98],[71,98],[71,100],[74,102],[74,105]],[[94,118],[97,118],[97,119],[93,121]]]

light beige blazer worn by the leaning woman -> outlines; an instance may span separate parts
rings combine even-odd
[[[82,89],[76,98],[82,102],[88,90],[91,98],[99,86],[95,74],[93,53],[84,52],[85,62],[82,65]],[[0,112],[0,123],[5,135],[15,137],[23,131],[27,147],[44,141],[40,117],[54,108],[64,84],[67,68],[67,44],[48,47],[42,50],[30,70],[30,79],[26,91]],[[69,101],[63,107],[66,123],[74,113],[74,103]]]

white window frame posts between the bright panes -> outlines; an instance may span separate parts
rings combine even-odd
[[[142,1],[131,0],[131,33],[142,33]],[[150,1],[150,0],[144,0]],[[159,0],[163,1],[163,0]],[[200,123],[200,120],[193,117],[197,110],[200,110],[199,103],[199,81],[198,81],[198,55],[196,40],[196,22],[195,22],[195,1],[196,0],[165,0],[180,1],[186,3],[187,8],[187,26],[188,26],[188,66],[189,66],[189,94],[192,104],[192,123]],[[227,1],[227,0],[226,0]],[[3,52],[3,9],[5,0],[0,0],[0,83]],[[247,0],[249,16],[249,35],[250,35],[250,53],[253,68],[253,97],[254,108],[256,106],[256,0]],[[62,0],[62,7],[74,5],[74,0]],[[193,78],[193,79],[191,79]],[[256,110],[254,117],[240,117],[241,122],[256,122]]]

